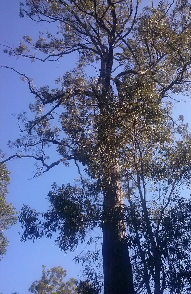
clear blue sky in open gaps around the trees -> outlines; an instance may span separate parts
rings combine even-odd
[[[19,18],[19,1],[6,0],[0,1],[0,43],[7,41],[11,46],[18,45],[23,35],[38,36],[38,31],[46,30],[46,26],[35,24],[26,17]],[[67,70],[75,66],[75,57],[66,56],[56,62],[41,63],[35,61],[31,63],[28,59],[15,59],[2,53],[0,48],[1,65],[14,67],[21,73],[33,77],[37,86],[48,84],[55,86],[55,79],[63,75]],[[90,70],[90,69],[88,69]],[[27,84],[23,83],[19,76],[8,69],[0,69],[0,134],[1,146],[8,156],[13,154],[7,147],[8,139],[16,139],[19,136],[19,128],[16,118],[12,114],[18,114],[21,110],[29,111],[28,104],[33,101],[33,95],[29,93]],[[180,97],[181,99],[182,97]],[[187,98],[188,100],[188,98]],[[183,114],[186,121],[190,122],[190,103],[181,102],[175,110],[175,116]],[[55,159],[52,150],[52,160]],[[17,211],[21,209],[23,203],[29,204],[37,211],[46,211],[48,202],[46,196],[50,191],[51,183],[58,184],[74,182],[78,176],[76,167],[71,164],[69,168],[59,165],[45,173],[40,179],[27,180],[31,178],[34,170],[33,161],[27,159],[15,160],[8,163],[11,171],[11,184],[9,185],[8,202],[14,204]],[[76,265],[72,259],[76,253],[64,255],[58,248],[53,247],[53,240],[39,240],[32,243],[27,241],[21,243],[18,232],[21,231],[20,224],[6,232],[10,245],[7,254],[0,262],[0,293],[27,294],[31,283],[41,277],[42,265],[48,268],[61,265],[68,271],[68,278],[77,277],[81,265]]]

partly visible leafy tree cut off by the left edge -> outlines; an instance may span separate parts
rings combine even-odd
[[[0,260],[6,253],[9,241],[4,237],[4,231],[17,221],[16,211],[11,203],[6,202],[9,184],[9,171],[5,164],[0,165]]]

